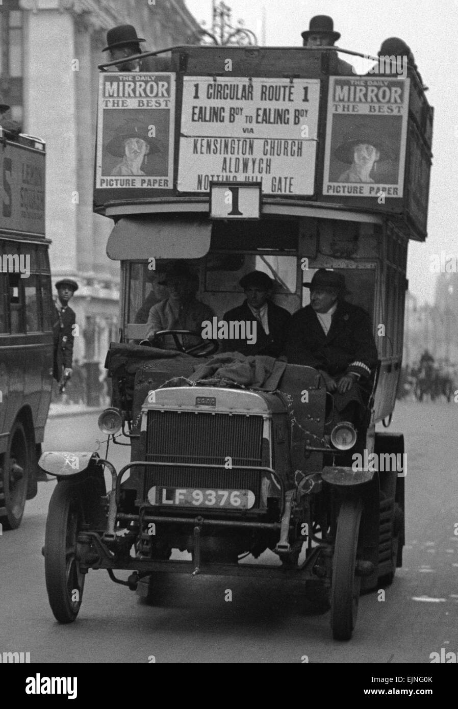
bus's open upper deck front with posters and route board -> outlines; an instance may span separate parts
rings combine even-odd
[[[432,108],[406,62],[360,76],[334,50],[200,46],[150,61],[101,74],[95,211],[224,217],[214,183],[233,182],[252,186],[231,191],[240,218],[388,216],[425,239]]]

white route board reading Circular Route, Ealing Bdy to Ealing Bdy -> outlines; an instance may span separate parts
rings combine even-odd
[[[313,194],[319,96],[318,79],[184,77],[178,190],[213,180]]]

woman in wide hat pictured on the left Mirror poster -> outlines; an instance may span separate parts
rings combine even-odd
[[[147,155],[160,152],[155,138],[148,135],[147,125],[125,121],[108,141],[106,151],[123,160],[111,170],[112,175],[145,175]]]

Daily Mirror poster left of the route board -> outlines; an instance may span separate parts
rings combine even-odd
[[[96,189],[172,189],[175,75],[101,74]]]

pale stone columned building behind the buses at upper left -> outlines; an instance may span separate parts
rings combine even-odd
[[[23,133],[46,142],[46,225],[53,283],[79,284],[71,305],[74,361],[103,364],[117,339],[118,264],[106,256],[113,223],[92,212],[99,65],[106,31],[135,26],[155,50],[184,44],[199,23],[184,0],[7,0],[0,5],[0,94]]]

